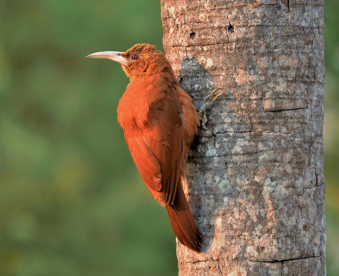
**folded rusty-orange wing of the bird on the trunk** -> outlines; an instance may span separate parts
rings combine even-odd
[[[181,107],[173,88],[152,103],[144,128],[125,132],[128,149],[149,192],[161,205],[172,204],[183,156]]]

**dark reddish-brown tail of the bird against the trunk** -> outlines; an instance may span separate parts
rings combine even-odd
[[[193,251],[201,252],[202,234],[195,224],[181,180],[179,180],[173,204],[166,204],[166,209],[179,242]]]

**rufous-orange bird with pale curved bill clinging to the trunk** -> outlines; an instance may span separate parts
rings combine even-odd
[[[168,59],[154,45],[138,43],[125,52],[97,52],[86,58],[113,60],[122,65],[130,82],[117,113],[127,147],[148,191],[166,207],[178,241],[200,253],[203,236],[182,183],[185,161],[200,126],[199,115],[206,117],[206,105],[198,114]],[[208,103],[220,95],[213,97],[213,92]],[[203,127],[206,128],[204,122]]]

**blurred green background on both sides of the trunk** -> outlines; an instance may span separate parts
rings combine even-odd
[[[327,275],[339,270],[339,6],[325,3]],[[84,57],[162,50],[160,1],[0,0],[0,275],[177,275],[117,124],[128,79]]]

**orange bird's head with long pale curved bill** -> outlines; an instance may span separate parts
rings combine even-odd
[[[138,79],[160,73],[164,68],[170,67],[165,55],[154,45],[135,44],[126,52],[98,52],[86,58],[101,58],[114,60],[122,65],[127,77]]]

